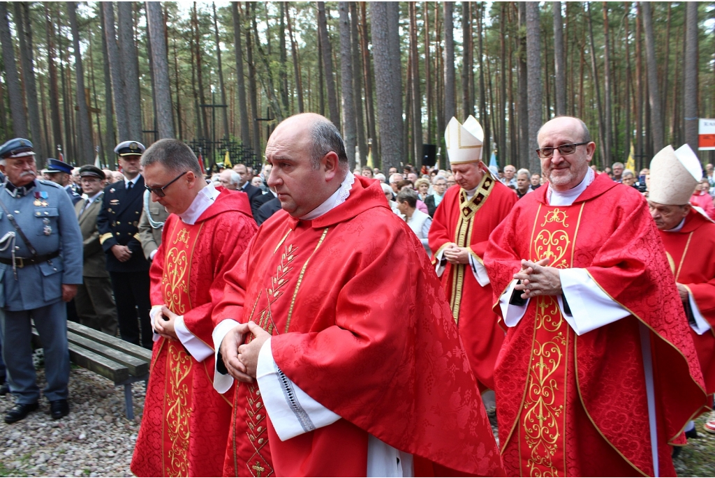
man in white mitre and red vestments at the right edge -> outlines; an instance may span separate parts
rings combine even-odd
[[[715,393],[715,224],[689,204],[690,191],[702,178],[690,146],[666,146],[651,161],[648,204],[666,247],[671,271],[690,325],[712,406]],[[706,425],[708,427],[713,425]],[[690,422],[686,436],[696,437]]]

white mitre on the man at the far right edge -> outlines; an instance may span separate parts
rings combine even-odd
[[[648,199],[668,206],[688,204],[698,181],[703,179],[703,170],[690,146],[678,149],[668,145],[651,161],[651,184]]]

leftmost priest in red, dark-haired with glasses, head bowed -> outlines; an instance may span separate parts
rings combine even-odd
[[[132,472],[220,476],[231,404],[212,386],[211,312],[257,227],[247,196],[206,184],[181,141],[152,144],[142,166],[152,200],[173,214],[149,272],[155,342]]]

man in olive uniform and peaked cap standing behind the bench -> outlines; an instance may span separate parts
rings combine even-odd
[[[74,211],[84,240],[84,267],[83,282],[77,287],[74,304],[80,324],[114,337],[117,335],[117,305],[112,297],[107,258],[97,230],[97,214],[102,209],[102,189],[106,183],[104,171],[97,166],[82,166],[79,177],[84,194],[83,200],[74,205]]]

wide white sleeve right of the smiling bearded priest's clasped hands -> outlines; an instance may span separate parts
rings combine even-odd
[[[586,269],[562,269],[559,276],[571,315],[563,313],[561,296],[558,296],[558,306],[576,335],[586,334],[631,315],[631,312],[623,309],[621,304],[614,302],[598,287]]]

